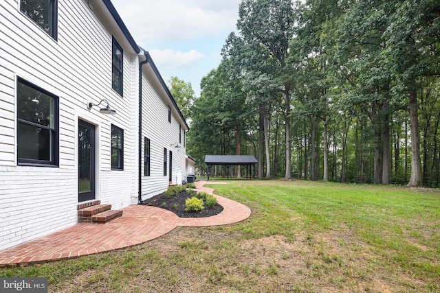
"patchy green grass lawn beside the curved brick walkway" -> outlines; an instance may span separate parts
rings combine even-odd
[[[438,189],[210,184],[250,218],[0,277],[49,277],[50,292],[440,292]]]

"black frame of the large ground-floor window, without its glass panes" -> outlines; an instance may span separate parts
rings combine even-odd
[[[53,127],[50,126],[44,126],[41,124],[34,123],[32,121],[27,121],[25,119],[19,118],[19,111],[20,111],[20,105],[19,105],[19,84],[24,84],[25,86],[30,87],[34,91],[39,91],[40,93],[43,93],[49,97],[52,97],[54,99],[53,102]],[[32,84],[32,82],[28,82],[27,80],[24,80],[23,78],[17,78],[17,165],[32,165],[32,166],[39,166],[39,167],[59,167],[59,153],[60,153],[60,146],[59,146],[59,135],[60,135],[60,126],[59,126],[59,105],[60,98],[57,95],[54,95],[53,93],[50,93],[49,91],[46,91],[45,89],[41,88],[40,86],[36,86],[35,84]],[[40,102],[37,102],[39,104]],[[20,144],[20,134],[19,134],[19,125],[25,125],[30,127],[36,127],[41,128],[44,130],[49,130],[52,133],[52,143],[50,146],[50,156],[52,157],[52,160],[41,160],[41,159],[29,159],[29,158],[20,158],[19,157],[19,144]],[[26,143],[28,143],[28,139],[25,139]]]

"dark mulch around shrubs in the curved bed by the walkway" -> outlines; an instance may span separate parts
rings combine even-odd
[[[202,211],[185,211],[185,201],[187,198],[192,198],[192,196],[186,191],[181,191],[177,196],[173,196],[173,198],[166,198],[165,194],[159,194],[144,200],[142,204],[172,211],[179,218],[205,218],[217,215],[223,211],[223,207],[220,204],[216,204],[212,209],[205,207]]]

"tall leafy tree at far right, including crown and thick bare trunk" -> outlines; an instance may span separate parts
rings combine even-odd
[[[423,185],[420,159],[417,89],[423,75],[439,75],[439,1],[393,1],[395,13],[386,31],[387,58],[395,78],[395,91],[409,97],[411,128],[411,176],[408,186]],[[434,54],[433,54],[434,53]]]

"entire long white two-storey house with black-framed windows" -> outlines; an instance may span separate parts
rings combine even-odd
[[[2,0],[0,23],[0,250],[186,175],[188,125],[111,1]]]

